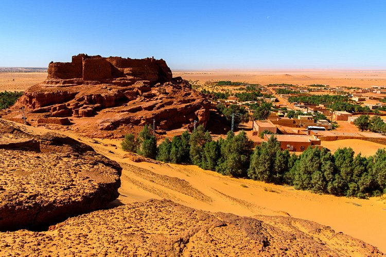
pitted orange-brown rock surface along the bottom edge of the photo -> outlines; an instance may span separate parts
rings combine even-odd
[[[208,213],[170,200],[95,211],[49,230],[0,232],[0,250],[37,256],[382,255],[363,241],[303,219]]]

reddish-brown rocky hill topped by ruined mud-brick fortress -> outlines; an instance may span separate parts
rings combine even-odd
[[[71,63],[51,62],[46,81],[27,89],[12,112],[1,115],[20,116],[21,107],[32,125],[41,118],[71,117],[77,132],[105,137],[114,131],[121,137],[125,126],[153,119],[160,130],[189,128],[194,120],[206,125],[210,104],[187,81],[173,79],[162,59],[79,54]]]

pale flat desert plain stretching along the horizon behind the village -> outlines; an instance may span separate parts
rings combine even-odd
[[[386,85],[386,70],[173,70],[173,77],[178,76],[186,80],[199,80],[201,83],[231,80],[262,85],[275,83],[358,87]],[[0,72],[0,91],[23,91],[44,81],[46,77],[46,72]]]

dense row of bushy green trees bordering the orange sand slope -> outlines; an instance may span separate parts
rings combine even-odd
[[[301,155],[280,150],[272,136],[253,150],[245,132],[229,132],[213,140],[202,125],[192,133],[165,139],[159,146],[149,126],[138,137],[126,135],[122,149],[164,162],[194,164],[202,169],[235,177],[291,185],[315,193],[365,198],[386,192],[386,151],[374,156],[355,156],[351,148],[308,148]]]

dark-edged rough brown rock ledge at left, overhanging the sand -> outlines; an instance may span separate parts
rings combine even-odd
[[[120,166],[90,146],[0,120],[0,231],[44,229],[118,197]]]

